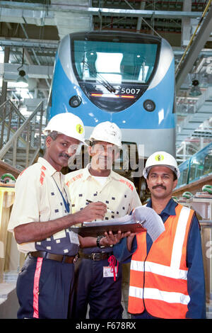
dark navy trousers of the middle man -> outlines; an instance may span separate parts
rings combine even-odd
[[[118,266],[116,281],[103,277],[107,259],[78,259],[75,269],[72,318],[85,319],[90,305],[90,319],[122,319],[122,266]]]

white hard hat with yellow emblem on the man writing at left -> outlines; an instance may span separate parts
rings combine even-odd
[[[73,115],[73,113],[66,112],[54,115],[42,132],[44,135],[48,135],[49,132],[53,130],[56,130],[60,134],[67,135],[68,137],[73,137],[87,145],[85,142],[83,121],[77,115]]]

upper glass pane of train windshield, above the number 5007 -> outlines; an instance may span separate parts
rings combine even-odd
[[[81,80],[103,77],[117,84],[147,84],[155,66],[157,48],[157,44],[75,40],[76,71]]]

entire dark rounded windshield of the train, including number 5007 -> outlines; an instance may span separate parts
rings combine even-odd
[[[73,69],[90,101],[107,111],[122,111],[148,88],[158,65],[160,41],[106,39],[72,40]]]

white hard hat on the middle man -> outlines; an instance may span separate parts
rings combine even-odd
[[[122,132],[115,123],[105,121],[95,126],[89,140],[105,141],[122,148]]]

